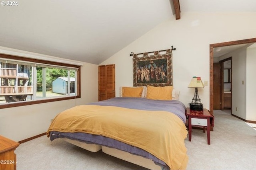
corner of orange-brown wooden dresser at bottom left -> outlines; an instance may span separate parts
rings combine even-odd
[[[16,154],[14,150],[18,142],[0,136],[0,170],[16,170]]]

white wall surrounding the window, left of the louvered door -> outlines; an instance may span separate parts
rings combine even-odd
[[[14,141],[28,139],[45,133],[60,111],[98,101],[98,65],[82,64],[81,98],[0,109],[0,135]]]

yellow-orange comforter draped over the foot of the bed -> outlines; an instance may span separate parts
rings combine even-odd
[[[102,135],[144,149],[164,161],[171,170],[186,169],[184,139],[187,130],[168,111],[144,111],[115,106],[76,106],[55,117],[50,131]]]

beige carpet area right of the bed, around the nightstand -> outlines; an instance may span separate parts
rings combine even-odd
[[[230,111],[214,110],[211,145],[206,134],[193,129],[192,141],[186,140],[188,170],[255,170],[256,131]]]

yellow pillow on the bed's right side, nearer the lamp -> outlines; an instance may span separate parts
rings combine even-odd
[[[154,100],[172,100],[172,86],[154,87],[148,86],[147,98]]]

